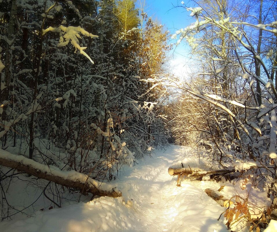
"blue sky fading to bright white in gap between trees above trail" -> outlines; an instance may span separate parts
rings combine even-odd
[[[137,0],[137,8],[140,8],[140,1]],[[188,6],[188,0],[183,0]],[[182,7],[175,7],[181,5],[181,0],[145,0],[146,9],[144,12],[148,14],[148,17],[152,17],[154,20],[157,20],[159,23],[164,25],[171,34],[174,34],[176,30],[180,28],[185,28],[194,20],[189,16],[190,12],[187,12],[186,9]],[[182,5],[183,6],[183,5]],[[175,40],[170,41],[170,43],[175,43]],[[172,70],[175,74],[186,76],[188,67],[188,54],[189,47],[185,43],[181,43],[177,48],[174,45],[173,47],[173,58],[170,63]]]

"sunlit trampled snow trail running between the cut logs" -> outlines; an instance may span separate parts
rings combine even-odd
[[[141,211],[141,224],[134,231],[228,231],[217,221],[224,208],[203,193],[207,187],[218,189],[220,185],[183,181],[181,187],[176,187],[177,177],[168,175],[168,167],[184,159],[184,153],[189,154],[189,149],[170,147],[155,158],[147,158],[144,165],[139,165],[123,180],[130,188],[123,190],[123,196],[132,198],[132,194],[137,195],[134,198]]]

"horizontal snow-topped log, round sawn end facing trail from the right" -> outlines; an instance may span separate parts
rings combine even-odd
[[[232,173],[236,170],[233,169],[226,169],[226,170],[217,170],[217,171],[201,171],[201,170],[192,170],[188,168],[169,168],[168,174],[170,176],[176,175],[184,175],[189,177],[203,177],[210,174],[221,174],[221,173]]]

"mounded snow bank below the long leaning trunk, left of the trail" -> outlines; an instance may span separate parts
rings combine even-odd
[[[104,232],[132,231],[134,210],[122,197],[101,197],[46,212],[37,211],[35,218],[1,222],[1,232]]]

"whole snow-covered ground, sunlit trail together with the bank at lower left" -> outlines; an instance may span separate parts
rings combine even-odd
[[[33,218],[0,222],[0,231],[227,232],[223,216],[217,220],[225,208],[203,191],[218,189],[220,183],[184,180],[176,187],[177,176],[168,175],[170,165],[188,156],[189,148],[171,146],[135,167],[124,168],[115,181],[122,191],[120,198],[100,197],[37,211]]]

